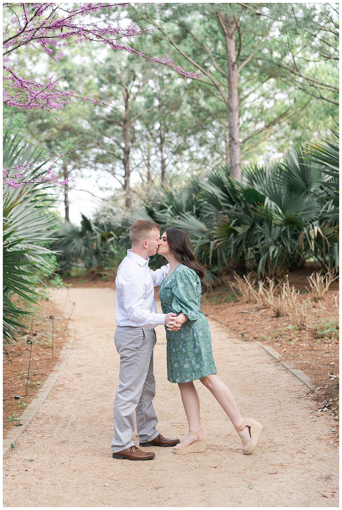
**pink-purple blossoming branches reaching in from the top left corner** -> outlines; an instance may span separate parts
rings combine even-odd
[[[126,7],[128,4],[81,4],[77,9],[68,9],[70,4],[56,4],[47,3],[33,3],[17,4],[21,9],[21,21],[17,14],[13,11],[11,4],[4,4],[4,7],[9,8],[14,16],[10,20],[12,25],[18,27],[17,32],[4,40],[4,56],[14,52],[21,46],[28,46],[29,44],[39,44],[43,51],[50,56],[53,60],[57,61],[64,58],[61,48],[70,44],[70,39],[73,43],[79,44],[83,41],[101,42],[108,44],[111,48],[119,51],[126,51],[134,54],[143,60],[150,60],[154,64],[161,64],[169,69],[175,70],[178,74],[186,78],[202,78],[203,75],[187,72],[182,67],[176,66],[172,59],[168,58],[165,54],[161,58],[149,57],[141,52],[137,52],[129,45],[119,44],[115,42],[117,38],[133,38],[140,37],[143,33],[149,33],[158,30],[157,27],[150,29],[139,30],[131,23],[128,27],[115,26],[112,21],[106,19],[87,19],[87,16],[102,11],[104,8],[112,9],[116,7]],[[32,6],[34,12],[31,17],[28,13],[29,6]],[[158,7],[160,7],[158,5]],[[76,19],[77,18],[77,19]],[[113,39],[112,39],[113,38]],[[55,55],[53,46],[60,51]],[[8,61],[7,58],[4,61]],[[70,103],[70,99],[81,98],[90,103],[100,103],[101,101],[92,99],[90,96],[79,96],[78,91],[60,91],[55,88],[55,84],[62,78],[54,80],[50,77],[46,83],[37,83],[33,79],[25,80],[16,75],[15,72],[7,65],[4,65],[4,82],[8,86],[4,90],[4,103],[9,107],[23,108],[23,109],[45,109],[57,110],[64,107],[65,104]],[[18,92],[13,94],[9,90],[17,89]],[[108,105],[109,106],[109,105]],[[58,121],[58,117],[56,117]]]

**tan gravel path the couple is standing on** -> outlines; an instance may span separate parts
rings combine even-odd
[[[65,296],[65,289],[57,291],[56,302],[63,305]],[[71,288],[69,299],[77,303],[75,345],[37,417],[5,458],[4,506],[338,506],[332,420],[310,419],[310,398],[297,398],[306,394],[301,382],[259,346],[235,340],[215,321],[209,324],[219,375],[241,414],[264,424],[259,447],[250,456],[241,454],[232,424],[197,382],[206,453],[180,456],[169,448],[143,448],[155,451],[155,460],[114,460],[115,292]],[[165,332],[162,326],[156,330],[158,428],[166,437],[182,438],[185,414],[177,385],[166,378]],[[334,496],[326,498],[324,491]]]

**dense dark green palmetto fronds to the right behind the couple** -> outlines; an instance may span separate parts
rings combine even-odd
[[[338,169],[338,139],[332,135],[333,142],[322,147],[333,147]],[[327,163],[321,154],[308,161],[309,149],[291,149],[282,163],[251,165],[241,183],[230,178],[227,165],[218,167],[200,186],[165,190],[157,210],[146,207],[146,212],[163,228],[173,225],[188,233],[209,278],[230,262],[242,270],[248,264],[260,275],[282,275],[308,258],[336,270],[338,209],[335,197],[326,195],[337,177],[327,174],[332,157]]]

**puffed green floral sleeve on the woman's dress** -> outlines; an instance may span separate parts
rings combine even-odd
[[[177,271],[175,274],[172,308],[176,313],[186,315],[191,322],[200,317],[199,285],[201,285],[200,278],[190,270]]]

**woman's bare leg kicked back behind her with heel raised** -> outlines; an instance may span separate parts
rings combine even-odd
[[[239,427],[242,423],[242,416],[231,391],[224,382],[222,382],[217,374],[207,375],[200,379],[200,381],[214,395],[234,427]],[[243,441],[243,449],[247,449],[249,446],[248,442],[250,443],[251,440],[249,427],[245,427],[243,430],[237,430],[237,433],[241,441]]]

